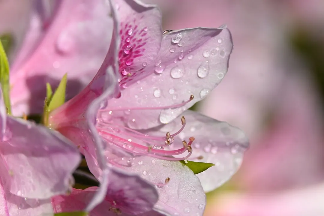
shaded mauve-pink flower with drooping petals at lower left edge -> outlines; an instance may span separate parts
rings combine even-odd
[[[80,154],[59,133],[6,116],[0,95],[0,214],[51,213],[49,199],[71,189]]]

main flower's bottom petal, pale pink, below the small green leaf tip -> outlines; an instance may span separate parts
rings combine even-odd
[[[154,210],[167,215],[203,215],[206,196],[198,177],[187,166],[147,156],[130,158],[126,164],[125,159],[119,163],[126,171],[156,185],[159,200]]]

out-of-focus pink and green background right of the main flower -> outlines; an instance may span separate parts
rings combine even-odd
[[[5,30],[26,31],[27,2],[0,14],[17,19],[0,25],[6,47]],[[205,216],[323,216],[324,1],[145,2],[161,8],[164,30],[226,24],[232,32],[227,75],[192,109],[241,128],[250,149],[232,180],[207,194]]]

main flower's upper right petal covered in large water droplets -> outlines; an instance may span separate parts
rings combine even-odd
[[[220,83],[232,47],[227,28],[193,28],[165,34],[158,54],[161,63],[154,66],[155,73],[124,89],[120,98],[110,100],[109,109],[133,129],[172,121]],[[193,100],[189,100],[191,94]],[[125,116],[124,110],[130,113]]]

